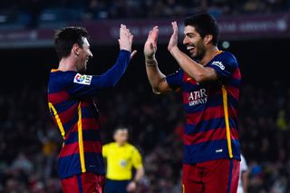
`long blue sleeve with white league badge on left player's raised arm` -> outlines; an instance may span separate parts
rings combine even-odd
[[[75,72],[68,80],[68,92],[75,98],[96,95],[101,89],[114,87],[120,81],[130,62],[131,53],[121,50],[117,62],[102,75],[86,75]]]

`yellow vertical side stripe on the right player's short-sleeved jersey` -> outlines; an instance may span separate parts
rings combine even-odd
[[[230,140],[230,130],[229,130],[229,122],[228,122],[228,111],[227,111],[227,90],[224,85],[222,85],[223,92],[223,104],[225,111],[225,121],[226,121],[226,131],[227,131],[227,148],[228,148],[228,156],[230,159],[233,158],[233,150],[232,150],[232,141]]]

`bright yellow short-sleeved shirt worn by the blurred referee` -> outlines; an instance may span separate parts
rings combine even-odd
[[[116,142],[103,145],[102,155],[107,159],[107,179],[130,180],[132,167],[139,169],[143,166],[140,152],[130,143],[123,146]]]

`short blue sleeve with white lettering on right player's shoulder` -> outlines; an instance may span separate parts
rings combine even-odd
[[[237,60],[231,53],[221,53],[214,58],[207,67],[215,69],[218,73],[218,78],[225,81],[232,76],[237,68]]]

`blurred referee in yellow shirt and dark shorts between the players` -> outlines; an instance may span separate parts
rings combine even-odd
[[[102,155],[107,161],[106,193],[126,193],[137,188],[144,175],[144,168],[139,150],[128,143],[128,129],[117,128],[111,142],[102,147]],[[136,169],[132,179],[132,167]]]

